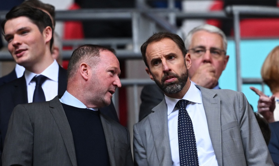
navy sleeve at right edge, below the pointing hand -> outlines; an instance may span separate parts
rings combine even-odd
[[[274,122],[270,124],[271,137],[268,144],[268,149],[271,158],[274,162],[279,163],[279,122]]]

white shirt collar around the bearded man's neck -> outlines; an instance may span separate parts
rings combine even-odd
[[[199,103],[199,104],[202,103],[200,90],[193,84],[192,81],[191,81],[190,88],[188,89],[188,91],[186,92],[186,94],[183,96],[182,99],[188,100],[190,101],[190,103],[191,102]],[[167,104],[167,115],[170,115],[170,113],[174,110],[176,103],[181,99],[175,99],[175,98],[167,97],[165,95],[165,100]]]

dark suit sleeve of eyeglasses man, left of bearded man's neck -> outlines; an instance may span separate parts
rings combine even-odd
[[[146,85],[141,91],[139,121],[149,115],[152,109],[164,99],[163,91],[157,85]]]

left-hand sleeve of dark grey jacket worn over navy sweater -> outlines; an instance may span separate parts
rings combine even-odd
[[[33,160],[34,129],[23,105],[12,112],[2,154],[2,165],[31,166]]]

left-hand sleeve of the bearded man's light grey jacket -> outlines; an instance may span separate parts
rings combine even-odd
[[[135,166],[148,166],[146,151],[138,133],[137,124],[134,125],[133,152]]]

